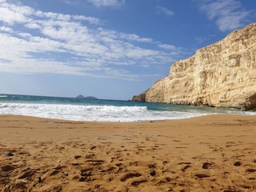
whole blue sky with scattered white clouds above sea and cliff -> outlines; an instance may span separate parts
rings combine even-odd
[[[0,93],[130,99],[255,22],[254,0],[0,0]]]

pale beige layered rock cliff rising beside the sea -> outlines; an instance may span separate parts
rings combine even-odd
[[[174,62],[146,102],[256,108],[256,22]]]

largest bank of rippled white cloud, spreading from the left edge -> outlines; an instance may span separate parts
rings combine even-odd
[[[1,1],[1,0],[0,0]],[[0,71],[56,73],[136,80],[132,67],[174,62],[172,45],[102,28],[101,19],[0,6]],[[21,25],[22,24],[22,25]],[[145,74],[147,75],[147,74]]]

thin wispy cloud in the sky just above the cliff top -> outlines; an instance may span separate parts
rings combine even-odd
[[[244,26],[250,10],[245,10],[237,0],[197,1],[199,9],[214,21],[219,30],[230,31]]]

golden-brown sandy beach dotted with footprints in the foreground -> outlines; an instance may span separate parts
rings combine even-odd
[[[256,191],[256,116],[0,116],[1,191]]]

